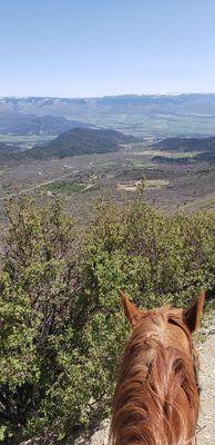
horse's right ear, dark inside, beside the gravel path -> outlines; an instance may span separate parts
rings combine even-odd
[[[205,293],[202,291],[194,305],[183,312],[184,323],[186,324],[191,334],[193,334],[198,328],[203,315],[204,300]]]

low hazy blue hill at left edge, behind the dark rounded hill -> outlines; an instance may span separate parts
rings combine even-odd
[[[20,113],[0,113],[0,134],[13,136],[54,136],[71,128],[89,127],[88,123],[63,117]]]

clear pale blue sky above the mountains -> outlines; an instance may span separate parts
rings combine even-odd
[[[0,0],[0,96],[215,92],[215,0]]]

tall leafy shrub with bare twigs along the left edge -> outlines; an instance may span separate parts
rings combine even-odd
[[[55,418],[48,400],[73,363],[80,243],[58,201],[10,201],[0,296],[0,419],[4,435]],[[68,357],[69,354],[69,357]]]

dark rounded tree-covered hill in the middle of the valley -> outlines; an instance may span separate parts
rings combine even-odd
[[[20,154],[20,159],[64,158],[74,155],[92,155],[116,151],[120,145],[134,142],[136,138],[120,131],[74,128],[63,132],[45,146],[37,146]]]

